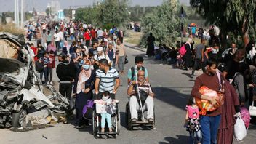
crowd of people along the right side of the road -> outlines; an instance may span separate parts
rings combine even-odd
[[[204,72],[196,77],[191,98],[186,106],[185,127],[190,132],[191,143],[194,143],[194,135],[197,137],[197,143],[233,143],[235,116],[241,117],[249,113],[250,105],[255,106],[252,103],[256,100],[255,41],[251,41],[245,49],[237,48],[236,43],[232,42],[231,47],[223,52],[214,30],[210,33],[208,44],[206,39],[201,39],[200,44],[194,47],[191,37],[186,42],[177,41],[176,49],[159,44],[153,55],[155,59],[167,61],[177,68],[191,70],[191,78],[200,68]],[[151,37],[152,34],[148,39]],[[218,103],[217,99],[209,95],[202,95],[199,89],[203,86],[222,92],[225,95],[223,103]],[[209,100],[212,105],[219,106],[217,110],[201,115],[196,98]],[[246,118],[243,117],[243,120],[245,123]],[[255,124],[255,119],[251,122]]]

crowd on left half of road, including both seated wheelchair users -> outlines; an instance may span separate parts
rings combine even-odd
[[[52,71],[56,68],[60,80],[60,94],[67,97],[71,103],[68,117],[72,118],[72,110],[76,109],[76,129],[89,127],[89,121],[84,116],[84,108],[92,100],[100,108],[101,132],[105,132],[105,121],[108,123],[108,131],[112,132],[111,113],[107,109],[111,103],[118,103],[115,95],[120,85],[119,75],[125,73],[127,54],[123,44],[123,31],[114,25],[109,31],[103,31],[101,28],[93,28],[92,25],[72,21],[41,23],[36,24],[35,28],[34,38],[37,47],[31,43],[30,53],[34,57],[36,70],[44,84],[53,85]],[[33,25],[29,24],[29,41],[33,37],[31,33],[34,33]],[[41,36],[36,37],[37,33]],[[68,41],[71,41],[71,44]],[[59,62],[57,65],[55,57]],[[148,83],[148,71],[143,67],[143,57],[135,57],[135,65],[127,73],[127,94],[130,95],[132,102],[132,121],[138,119],[135,114],[137,105],[133,103],[137,100],[135,84],[138,84],[141,89],[146,90],[148,98],[144,107],[148,108],[148,121],[152,122],[153,92]]]

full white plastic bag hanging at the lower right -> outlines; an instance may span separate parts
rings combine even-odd
[[[240,117],[236,119],[233,135],[239,141],[247,136],[247,129],[245,128],[244,121]]]

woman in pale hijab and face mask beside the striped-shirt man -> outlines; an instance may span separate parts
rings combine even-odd
[[[87,100],[92,99],[93,89],[95,89],[95,72],[91,70],[91,62],[85,60],[76,87],[76,129],[82,128],[84,124],[89,126],[88,120],[83,118],[83,108]]]

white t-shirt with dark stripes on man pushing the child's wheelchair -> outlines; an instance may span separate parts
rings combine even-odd
[[[107,73],[98,69],[96,71],[96,78],[100,79],[99,92],[108,91],[113,93],[115,87],[115,80],[119,79],[119,73],[115,68],[110,68]]]

